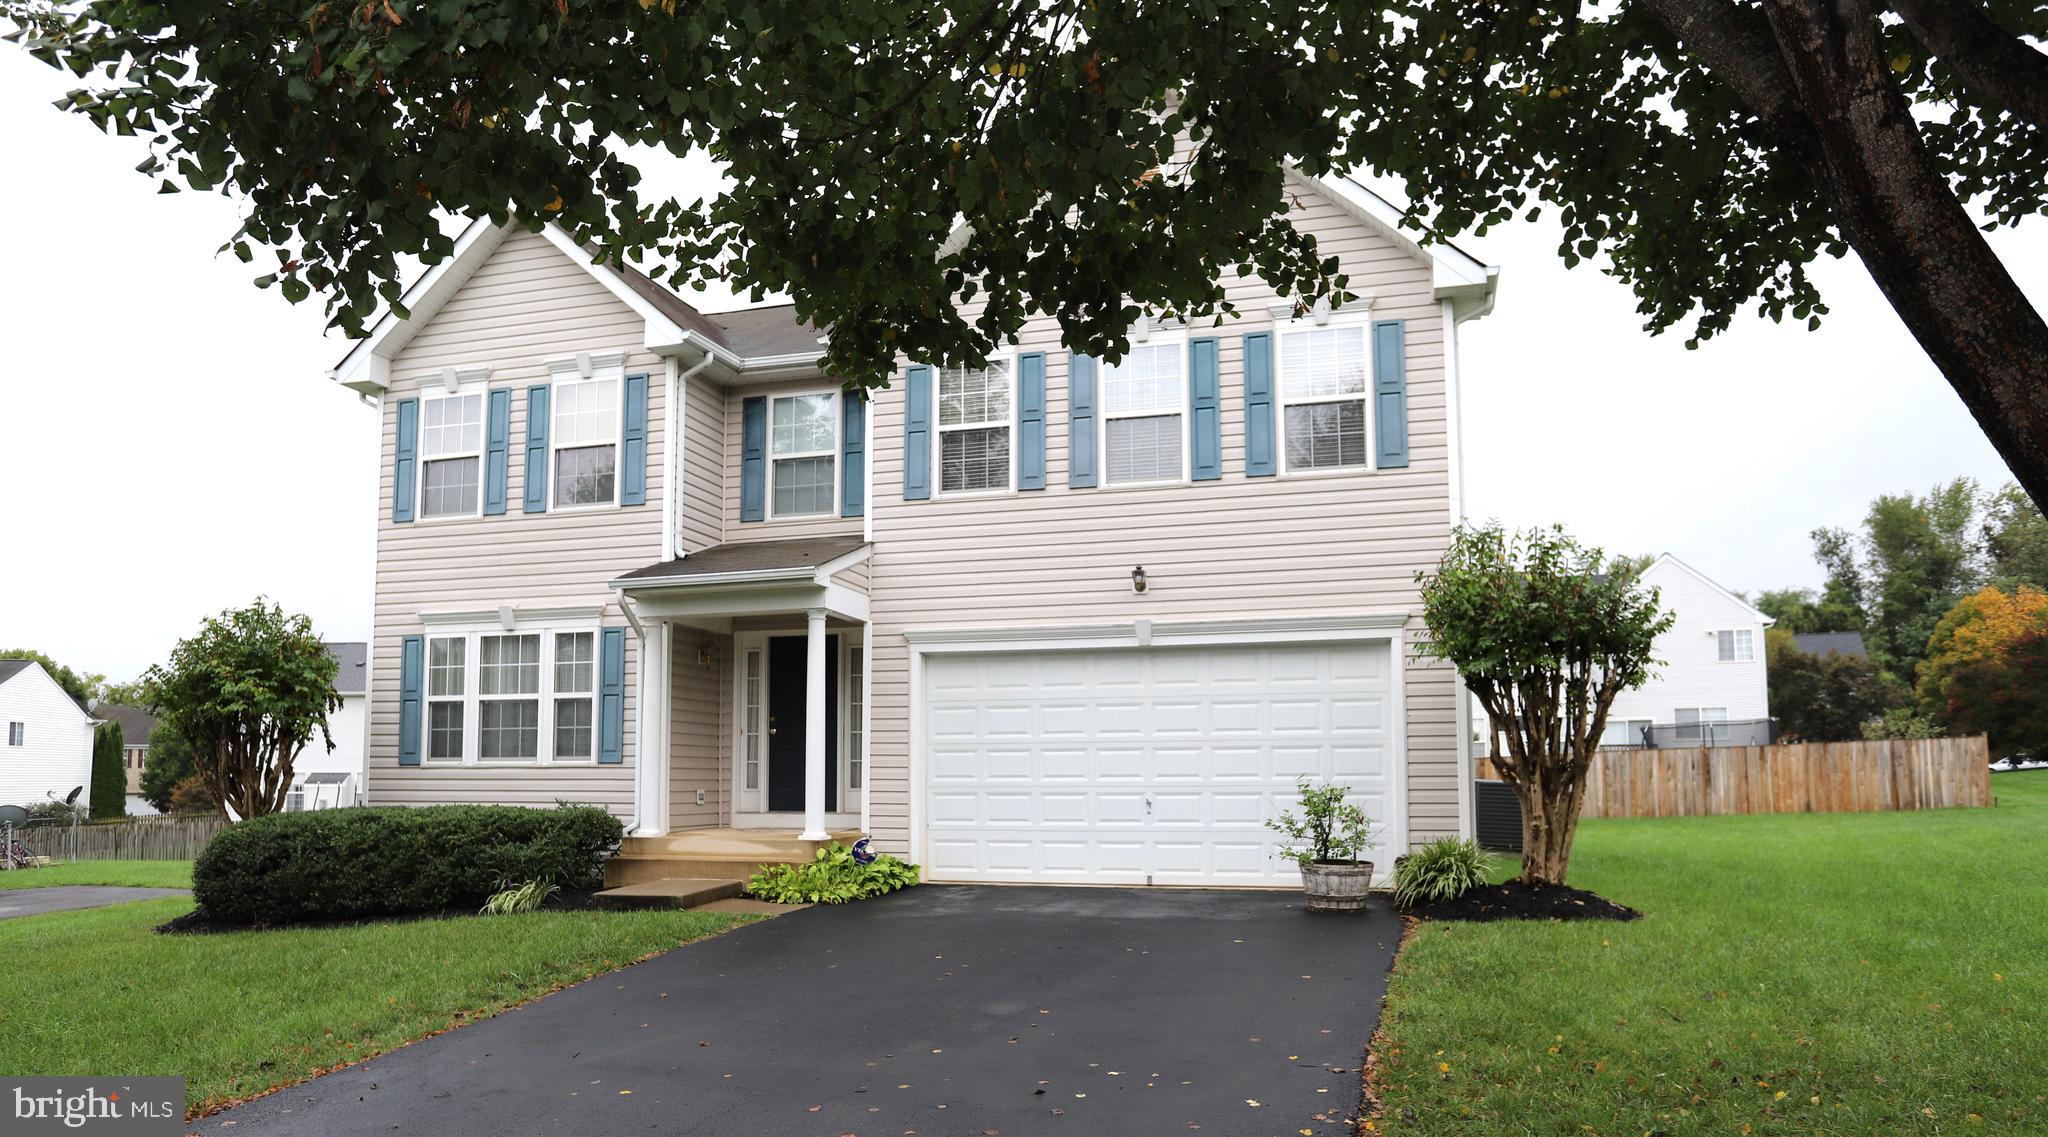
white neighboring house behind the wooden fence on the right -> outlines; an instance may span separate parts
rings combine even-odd
[[[1671,629],[1651,680],[1614,697],[1604,746],[1747,746],[1772,742],[1763,629],[1774,621],[1665,553],[1642,572]]]

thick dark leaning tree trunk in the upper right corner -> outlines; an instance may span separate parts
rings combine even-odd
[[[2048,504],[2048,322],[1921,145],[1866,0],[1763,8],[1843,238],[2028,496]]]

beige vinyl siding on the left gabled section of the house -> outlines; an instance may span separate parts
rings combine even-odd
[[[625,615],[606,580],[659,559],[666,369],[641,350],[643,324],[598,281],[535,234],[512,234],[391,361],[379,453],[377,598],[371,643],[369,795],[379,805],[592,801],[633,813],[637,637],[627,631],[625,754],[616,766],[397,766],[399,647],[424,633],[422,613],[600,606],[606,627]],[[549,381],[547,361],[627,350],[627,373],[647,373],[647,504],[522,512],[526,389]],[[489,367],[489,387],[512,391],[502,516],[391,520],[397,402],[438,389],[444,367]]]

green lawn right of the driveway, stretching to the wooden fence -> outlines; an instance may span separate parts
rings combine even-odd
[[[1995,809],[1587,822],[1632,924],[1423,924],[1397,1135],[2048,1131],[2048,772]]]

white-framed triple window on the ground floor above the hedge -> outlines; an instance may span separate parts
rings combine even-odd
[[[594,760],[596,647],[594,625],[430,631],[424,760]]]

